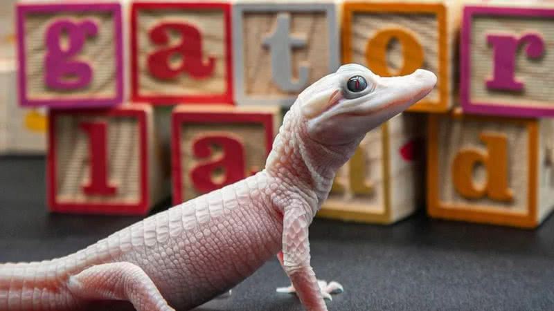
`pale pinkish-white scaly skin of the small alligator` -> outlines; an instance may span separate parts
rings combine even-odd
[[[355,75],[368,87],[350,91]],[[98,301],[129,301],[139,311],[188,310],[276,254],[305,308],[327,310],[310,266],[308,226],[365,133],[435,83],[425,70],[383,78],[363,66],[342,66],[298,96],[263,171],[75,254],[0,265],[0,310],[82,310]]]

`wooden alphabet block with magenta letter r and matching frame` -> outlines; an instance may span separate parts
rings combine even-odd
[[[554,115],[554,3],[516,5],[496,1],[463,10],[460,93],[465,112]]]

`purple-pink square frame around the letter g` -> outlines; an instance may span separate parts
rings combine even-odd
[[[116,64],[116,95],[114,97],[81,97],[71,99],[37,100],[29,98],[26,82],[26,46],[24,21],[28,14],[57,12],[111,12],[114,16],[114,44]],[[19,58],[18,82],[21,106],[48,106],[53,108],[83,108],[116,106],[123,102],[123,32],[121,6],[119,3],[73,3],[73,4],[19,4],[17,6],[17,57]]]

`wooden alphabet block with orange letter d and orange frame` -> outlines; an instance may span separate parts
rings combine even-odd
[[[429,214],[537,227],[554,205],[553,148],[549,119],[432,115]]]

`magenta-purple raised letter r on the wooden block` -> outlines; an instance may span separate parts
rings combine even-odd
[[[521,44],[527,44],[525,53],[529,58],[539,58],[544,53],[544,40],[529,33],[517,39],[511,35],[488,35],[487,41],[494,52],[494,71],[487,80],[487,87],[494,90],[521,91],[523,82],[515,79],[515,57]]]

